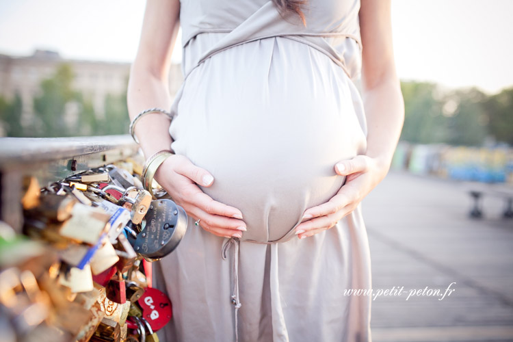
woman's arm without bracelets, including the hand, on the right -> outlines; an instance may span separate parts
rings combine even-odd
[[[361,0],[363,103],[367,118],[365,155],[339,161],[335,172],[347,176],[337,195],[307,209],[295,228],[302,239],[331,228],[351,213],[389,172],[404,123],[404,101],[395,71],[391,1]]]

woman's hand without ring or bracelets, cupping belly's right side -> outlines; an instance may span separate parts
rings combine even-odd
[[[334,170],[341,176],[347,176],[345,184],[328,202],[304,211],[302,223],[295,228],[295,234],[303,239],[326,231],[351,213],[384,179],[389,170],[389,164],[384,164],[367,155],[339,161]]]

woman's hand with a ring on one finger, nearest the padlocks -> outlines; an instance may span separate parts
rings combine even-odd
[[[211,186],[213,176],[195,166],[187,157],[168,157],[155,173],[155,180],[177,205],[185,209],[187,215],[201,220],[200,226],[205,231],[220,237],[241,237],[241,231],[246,231],[239,209],[213,200],[198,187],[198,184]]]

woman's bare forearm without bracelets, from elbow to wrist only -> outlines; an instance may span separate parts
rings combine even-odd
[[[365,154],[376,158],[388,171],[404,123],[404,101],[397,78],[389,77],[364,90],[363,103],[368,127]]]

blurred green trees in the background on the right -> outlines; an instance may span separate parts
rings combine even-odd
[[[441,92],[434,83],[402,82],[401,140],[479,146],[513,144],[513,88],[488,96],[476,88]]]

